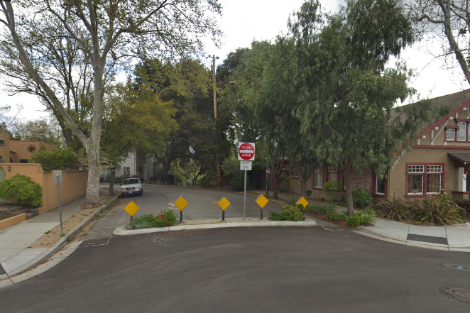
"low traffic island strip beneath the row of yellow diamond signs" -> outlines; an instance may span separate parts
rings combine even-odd
[[[317,226],[313,220],[305,221],[269,221],[268,219],[258,218],[231,218],[225,219],[192,219],[183,221],[175,226],[158,227],[149,229],[126,229],[126,226],[119,227],[114,230],[113,234],[116,236],[129,236],[138,234],[151,234],[161,231],[182,231],[188,229],[219,229],[227,227],[261,227],[261,226]]]

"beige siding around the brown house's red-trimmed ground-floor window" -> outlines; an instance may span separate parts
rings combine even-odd
[[[413,148],[411,151],[405,151],[393,170],[389,172],[387,196],[408,196],[406,190],[407,163],[443,163],[444,190],[448,194],[452,194],[452,191],[457,190],[457,162],[449,158],[447,153],[470,153],[470,147],[469,149]]]

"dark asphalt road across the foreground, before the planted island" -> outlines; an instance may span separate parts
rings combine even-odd
[[[337,226],[180,231],[82,246],[0,290],[0,312],[470,312],[466,253],[378,241]]]

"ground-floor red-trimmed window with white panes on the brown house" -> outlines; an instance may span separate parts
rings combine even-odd
[[[442,188],[442,164],[408,165],[408,194],[438,194]]]

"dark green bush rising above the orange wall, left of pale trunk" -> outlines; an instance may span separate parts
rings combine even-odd
[[[53,170],[73,170],[77,167],[78,155],[72,148],[45,150],[42,146],[39,151],[33,153],[28,163],[39,163],[45,172]]]

